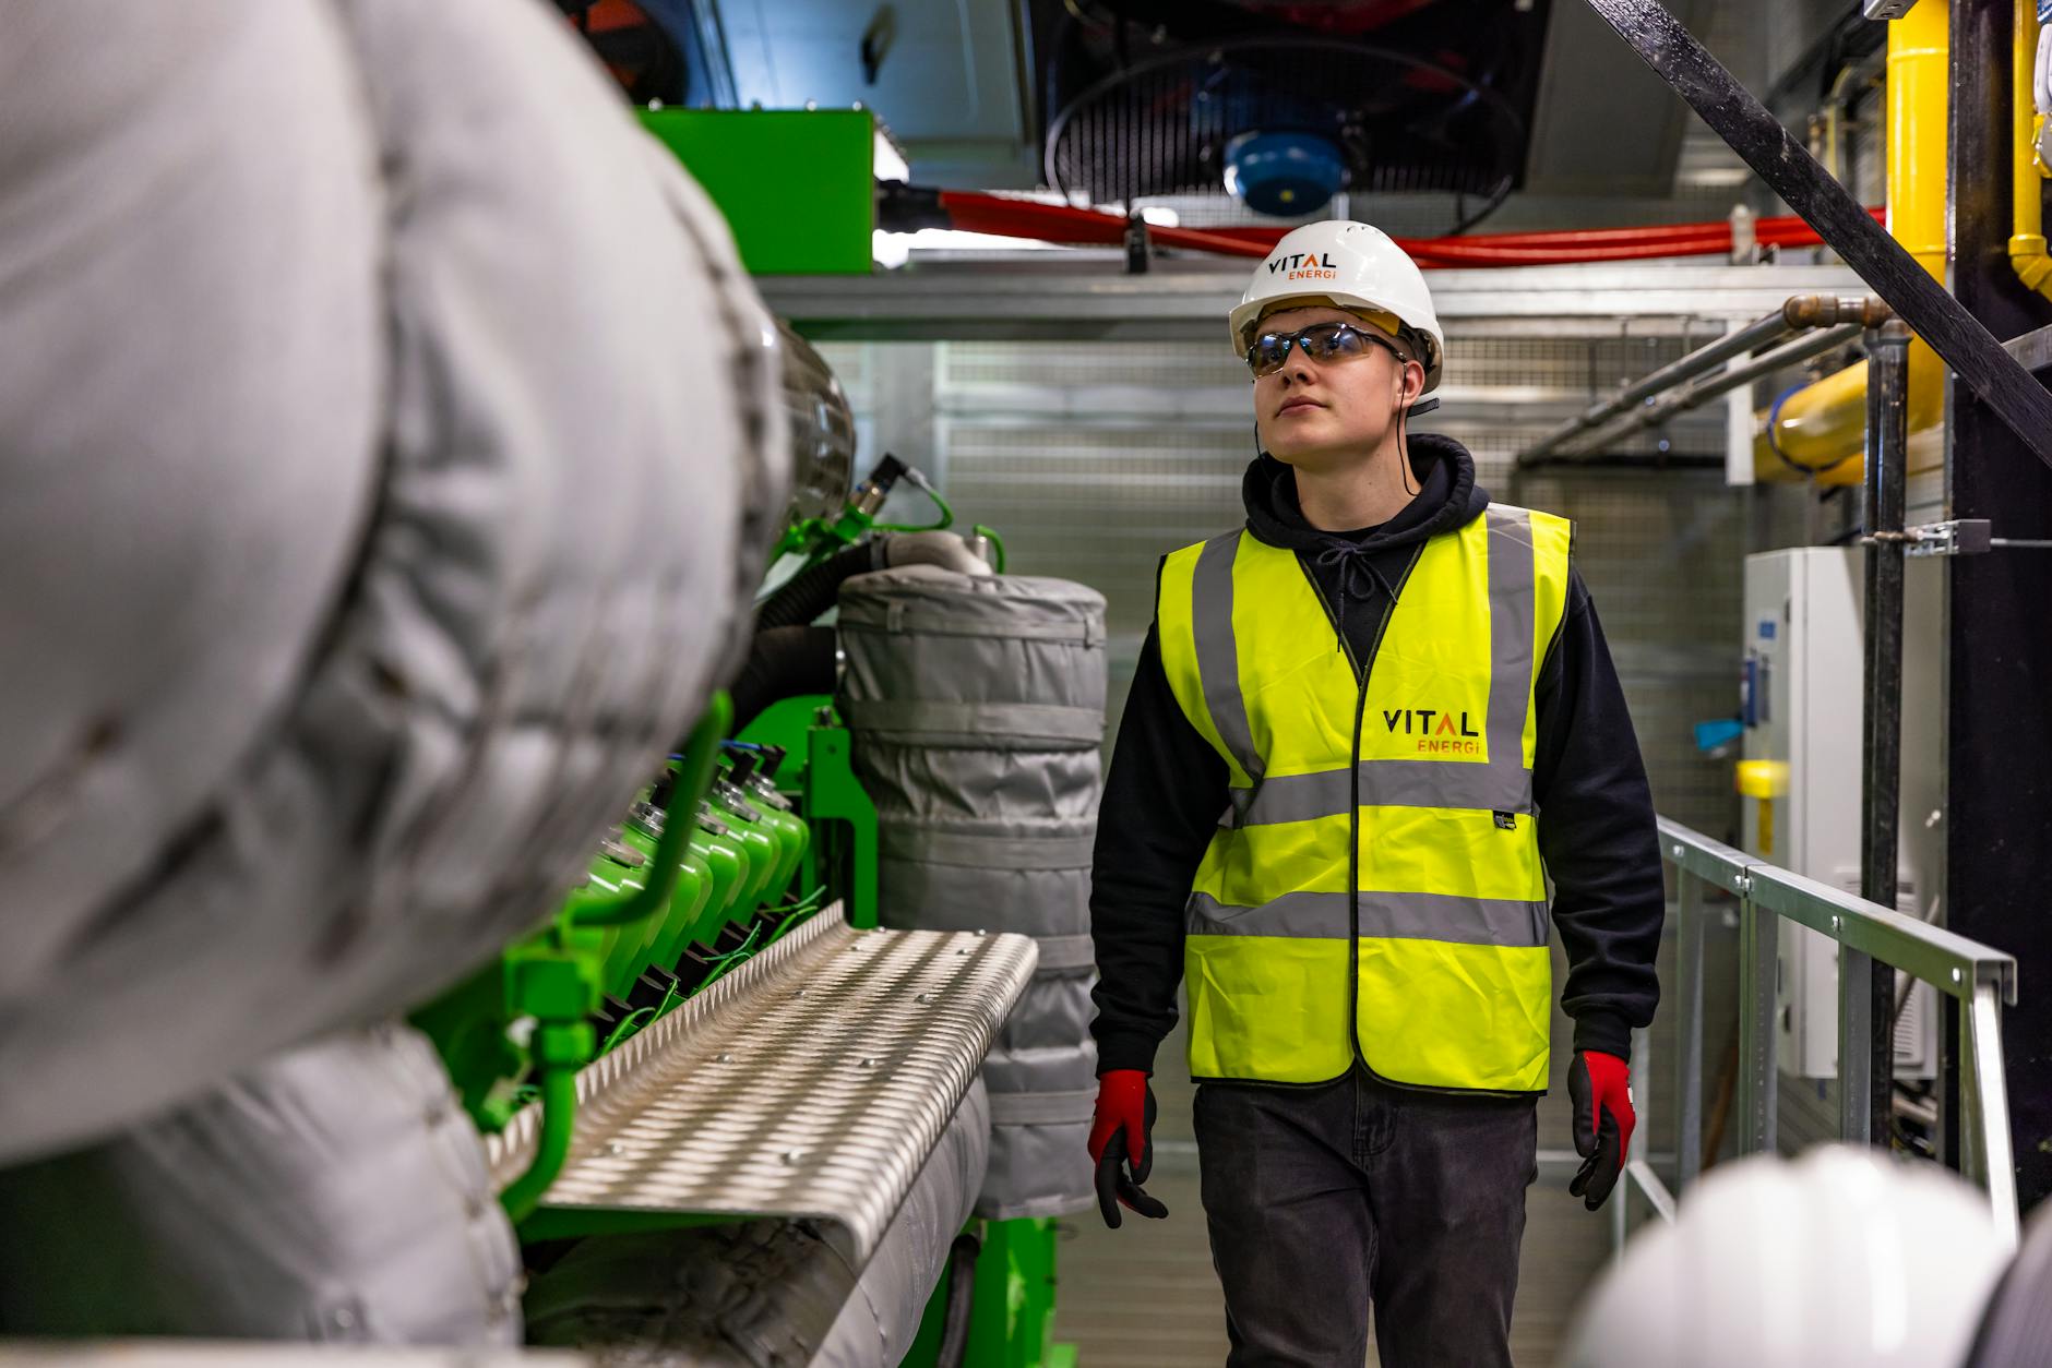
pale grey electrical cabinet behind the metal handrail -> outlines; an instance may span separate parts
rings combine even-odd
[[[1902,820],[1896,909],[1935,919],[1943,888],[1943,562],[1910,560],[1902,613]],[[1793,548],[1746,558],[1746,724],[1738,788],[1744,849],[1859,892],[1865,656],[1863,554]],[[1900,991],[1898,991],[1900,993]],[[1781,1071],[1839,1073],[1839,948],[1781,925],[1775,974]],[[1937,1001],[1919,984],[1896,1019],[1896,1077],[1937,1073]]]

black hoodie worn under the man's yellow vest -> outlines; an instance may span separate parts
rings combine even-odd
[[[1416,546],[1490,507],[1461,443],[1420,433],[1410,453],[1420,492],[1381,527],[1352,533],[1311,527],[1295,472],[1274,457],[1256,457],[1241,482],[1248,529],[1297,552],[1360,660],[1389,597],[1404,593]],[[1654,954],[1666,890],[1646,767],[1580,574],[1570,576],[1568,613],[1539,669],[1537,710],[1533,802],[1568,952],[1562,1007],[1576,1050],[1629,1058],[1629,1028],[1648,1025],[1660,1001]],[[1225,806],[1225,761],[1170,693],[1149,628],[1104,779],[1092,870],[1098,1073],[1151,1071],[1176,1025],[1184,902]]]

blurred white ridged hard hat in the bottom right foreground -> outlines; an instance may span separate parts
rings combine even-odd
[[[1986,1196],[1935,1165],[1746,1159],[1631,1241],[1562,1362],[1956,1368],[2007,1263]]]

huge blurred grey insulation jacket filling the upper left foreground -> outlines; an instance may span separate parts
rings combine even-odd
[[[0,1159],[542,921],[739,662],[776,332],[527,0],[0,43]]]

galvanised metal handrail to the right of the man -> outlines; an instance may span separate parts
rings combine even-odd
[[[1775,1058],[1775,956],[1779,919],[1808,927],[1839,943],[1839,1134],[1869,1142],[1867,1099],[1873,1093],[1873,1056],[1865,1032],[1871,999],[1871,964],[1882,962],[1929,982],[1960,1013],[1960,1171],[1988,1194],[1999,1235],[2017,1243],[2017,1175],[2009,1140],[2009,1085],[2003,1073],[2005,1005],[2017,1001],[2017,962],[1999,950],[1943,927],[1904,917],[1722,841],[1681,822],[1660,818],[1660,859],[1674,866],[1676,911],[1676,1058],[1679,1144],[1676,1188],[1687,1190],[1703,1171],[1703,888],[1738,898],[1738,1153],[1771,1153],[1777,1138],[1779,1062]],[[1642,1116],[1652,1112],[1652,1054],[1646,1032],[1635,1032],[1631,1073]],[[1631,1140],[1623,1185],[1637,1190],[1664,1218],[1674,1216],[1674,1192],[1650,1161],[1650,1126]],[[1621,1253],[1625,1202],[1611,1212],[1613,1241]]]

